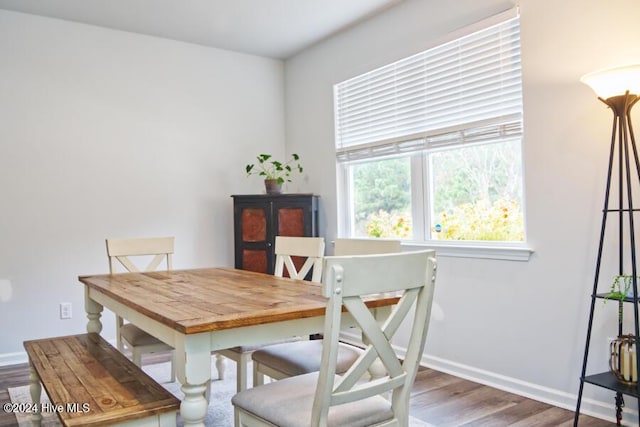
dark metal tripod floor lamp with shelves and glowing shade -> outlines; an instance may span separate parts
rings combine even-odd
[[[618,425],[622,420],[622,408],[624,406],[623,395],[628,394],[638,398],[640,406],[640,389],[637,385],[618,383],[616,377],[610,372],[596,375],[586,375],[589,344],[591,341],[591,329],[593,325],[595,303],[598,298],[604,298],[606,294],[597,294],[602,252],[605,240],[605,230],[609,214],[611,220],[617,222],[618,227],[618,274],[632,276],[633,298],[625,298],[627,302],[633,302],[635,319],[635,348],[638,346],[640,330],[638,329],[638,269],[636,265],[636,236],[634,226],[634,214],[640,209],[634,208],[634,188],[640,188],[640,161],[636,141],[631,125],[631,108],[640,99],[640,65],[612,68],[596,71],[582,77],[581,81],[590,86],[598,99],[604,102],[613,112],[613,126],[611,131],[611,148],[609,151],[609,168],[607,174],[607,186],[605,191],[604,208],[602,210],[602,226],[600,229],[600,243],[596,260],[595,280],[591,294],[591,311],[589,313],[589,325],[587,340],[580,375],[580,389],[576,404],[574,426],[578,425],[580,416],[580,403],[585,383],[594,384],[616,392],[616,419]],[[617,171],[617,173],[614,172]],[[612,178],[617,179],[617,191],[612,192]],[[637,193],[636,193],[637,194]],[[610,203],[611,202],[611,203]],[[611,206],[610,206],[611,205]],[[630,269],[625,272],[625,269]],[[623,302],[619,302],[622,307]],[[623,334],[622,318],[618,322],[618,336]],[[636,358],[636,368],[640,372],[640,358]]]

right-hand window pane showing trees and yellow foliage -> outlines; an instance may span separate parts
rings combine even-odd
[[[520,141],[428,154],[431,238],[524,240]]]

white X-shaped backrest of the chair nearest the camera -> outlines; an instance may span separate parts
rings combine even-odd
[[[436,260],[433,250],[384,255],[330,256],[324,259],[322,289],[329,298],[324,326],[322,364],[311,425],[326,425],[329,407],[392,391],[398,425],[408,425],[409,397],[431,315]],[[365,305],[366,295],[400,292],[401,299],[382,324]],[[367,338],[364,353],[343,376],[336,375],[340,318],[345,307]],[[409,347],[399,361],[391,340],[405,318],[412,315]],[[376,359],[387,376],[361,381]]]

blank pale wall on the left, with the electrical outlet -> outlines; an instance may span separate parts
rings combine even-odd
[[[84,332],[77,277],[108,272],[106,237],[233,265],[229,196],[284,152],[283,84],[281,61],[0,11],[0,364]]]

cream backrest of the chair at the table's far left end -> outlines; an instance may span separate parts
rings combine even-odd
[[[150,237],[142,239],[107,239],[107,255],[109,255],[109,273],[117,271],[118,264],[127,271],[153,271],[166,260],[167,270],[172,269],[173,237]],[[139,268],[132,260],[150,258],[144,268]]]

